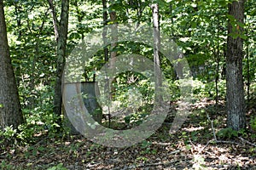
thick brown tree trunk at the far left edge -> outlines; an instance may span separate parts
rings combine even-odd
[[[24,122],[15,73],[9,55],[3,0],[0,0],[0,129]]]

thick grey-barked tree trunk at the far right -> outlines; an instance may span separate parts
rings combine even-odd
[[[246,127],[244,89],[242,81],[242,50],[243,41],[241,34],[243,28],[238,23],[244,23],[244,1],[234,1],[229,5],[229,13],[234,21],[228,26],[228,53],[226,59],[226,81],[227,81],[227,113],[228,127],[239,130]],[[237,37],[238,36],[238,37]]]

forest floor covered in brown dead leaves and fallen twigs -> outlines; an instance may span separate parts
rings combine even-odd
[[[175,104],[172,111],[175,110]],[[247,109],[255,116],[255,108]],[[168,120],[169,119],[169,120]],[[201,101],[175,134],[169,134],[172,116],[150,138],[126,148],[94,144],[83,136],[38,137],[38,142],[6,148],[2,169],[256,169],[256,133],[221,136],[224,105]],[[213,129],[214,132],[213,133]],[[216,137],[216,138],[215,138]]]

